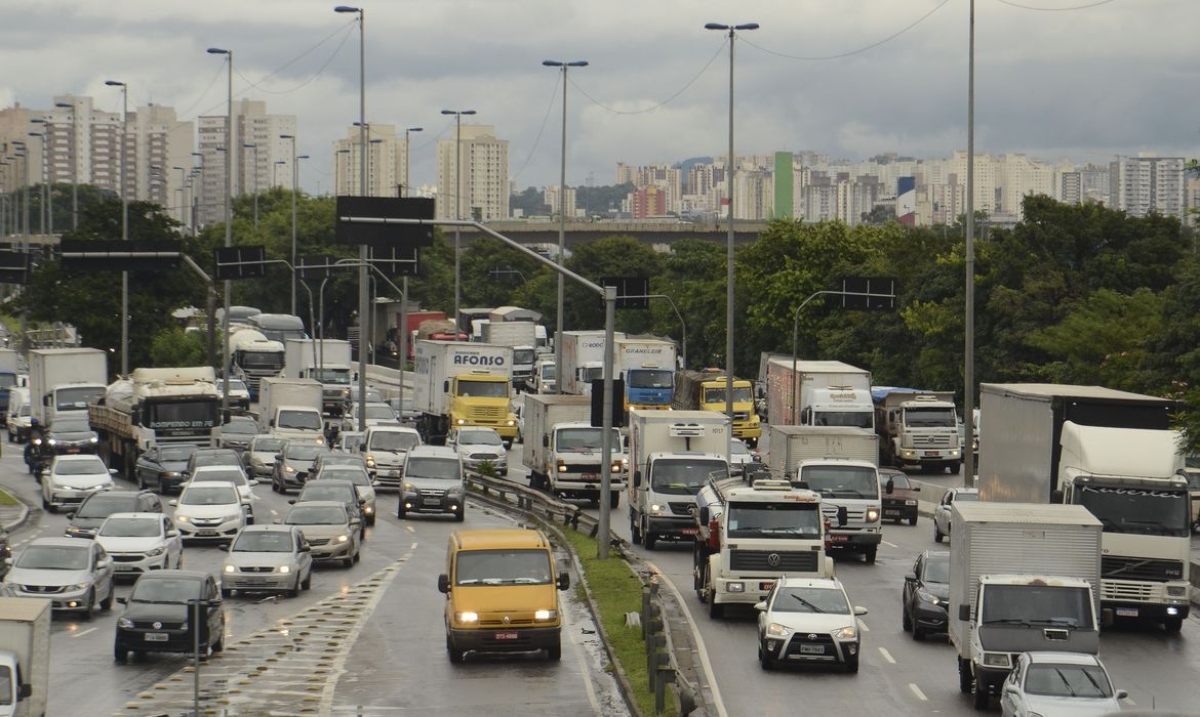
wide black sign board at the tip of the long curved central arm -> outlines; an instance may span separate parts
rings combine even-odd
[[[337,243],[370,247],[431,247],[433,224],[388,219],[433,219],[433,199],[425,197],[338,197]]]

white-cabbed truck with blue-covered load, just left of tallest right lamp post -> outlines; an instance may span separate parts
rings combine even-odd
[[[962,436],[953,392],[875,386],[871,400],[880,465],[958,472]]]

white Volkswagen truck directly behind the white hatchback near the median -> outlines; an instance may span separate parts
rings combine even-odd
[[[780,576],[832,578],[821,496],[770,478],[709,481],[696,494],[692,583],[713,619],[752,605]]]

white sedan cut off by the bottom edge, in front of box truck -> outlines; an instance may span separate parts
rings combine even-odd
[[[1001,688],[1000,709],[1004,717],[1099,717],[1120,712],[1126,697],[1124,689],[1112,689],[1109,671],[1094,655],[1024,652]]]

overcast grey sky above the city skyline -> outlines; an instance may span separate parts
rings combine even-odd
[[[118,110],[224,114],[234,96],[295,114],[310,192],[331,186],[331,143],[359,119],[355,16],[325,0],[43,0],[0,24],[0,106],[55,95]],[[474,109],[509,140],[518,187],[558,183],[560,72],[568,183],[610,185],[617,162],[724,156],[726,34],[736,44],[736,150],[862,159],[966,149],[970,0],[368,0],[367,121],[424,126],[413,182],[434,180],[442,109]],[[976,0],[976,147],[1056,161],[1200,157],[1198,0]]]

